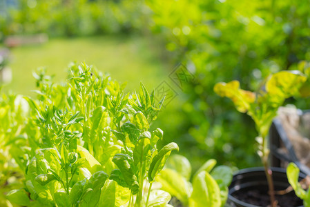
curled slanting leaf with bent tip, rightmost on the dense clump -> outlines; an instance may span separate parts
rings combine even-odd
[[[164,168],[166,160],[172,150],[179,151],[179,146],[175,142],[171,142],[159,150],[158,154],[153,157],[150,168],[148,170],[148,181],[153,181],[155,176]]]

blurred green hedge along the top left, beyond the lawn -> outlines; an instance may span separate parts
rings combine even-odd
[[[137,32],[147,13],[139,0],[18,0],[0,12],[0,32],[52,37]]]

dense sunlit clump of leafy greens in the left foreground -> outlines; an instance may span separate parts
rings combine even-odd
[[[21,206],[169,206],[171,195],[152,190],[175,143],[162,149],[151,129],[162,101],[141,84],[125,93],[93,67],[70,66],[67,84],[43,69],[35,74],[37,99],[25,97],[30,115],[23,148],[12,156],[23,170],[23,188],[6,197]],[[156,105],[156,106],[155,106]]]

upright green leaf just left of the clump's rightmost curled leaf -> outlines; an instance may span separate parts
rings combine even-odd
[[[137,166],[139,163],[151,159],[151,133],[146,131],[140,135],[137,144],[135,144],[135,149],[133,150],[133,160]],[[139,166],[138,166],[139,167]]]

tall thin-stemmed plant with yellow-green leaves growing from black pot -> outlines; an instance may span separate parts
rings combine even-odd
[[[273,189],[272,172],[269,167],[269,148],[267,135],[273,118],[277,115],[278,108],[285,99],[300,95],[304,88],[307,77],[299,70],[285,70],[269,76],[263,83],[262,88],[256,92],[240,89],[239,81],[229,83],[217,83],[215,92],[221,97],[229,97],[240,112],[246,112],[255,122],[259,136],[258,155],[262,160],[269,186],[271,206],[276,206]]]

